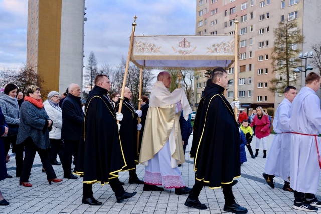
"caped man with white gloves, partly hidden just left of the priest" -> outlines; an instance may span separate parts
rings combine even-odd
[[[119,91],[121,94],[121,91]],[[124,151],[127,166],[123,171],[129,172],[129,183],[144,184],[136,174],[136,164],[138,164],[138,149],[137,149],[137,130],[141,129],[141,124],[138,124],[138,117],[141,117],[141,110],[135,110],[134,106],[130,103],[132,93],[129,88],[124,89],[124,100],[122,103],[121,113],[123,119],[120,122],[121,129],[119,130],[122,149]],[[119,102],[116,103],[116,112],[119,109]]]

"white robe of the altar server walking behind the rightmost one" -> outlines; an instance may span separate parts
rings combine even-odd
[[[290,114],[291,102],[284,99],[275,112],[273,119],[273,130],[276,135],[273,138],[269,155],[265,164],[265,173],[275,175],[290,182]]]

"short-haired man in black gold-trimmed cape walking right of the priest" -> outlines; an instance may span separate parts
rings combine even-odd
[[[223,68],[212,72],[212,81],[204,89],[204,97],[198,106],[193,144],[190,155],[194,158],[195,184],[185,205],[207,209],[198,197],[203,186],[222,188],[224,211],[247,213],[247,209],[235,202],[232,182],[240,177],[240,134],[234,112],[223,95],[229,79]]]

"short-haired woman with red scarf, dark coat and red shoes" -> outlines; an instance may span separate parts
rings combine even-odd
[[[36,152],[38,152],[43,167],[45,168],[49,184],[51,184],[51,182],[61,182],[62,179],[57,178],[50,164],[49,129],[51,130],[52,128],[52,120],[49,119],[44,109],[40,88],[38,86],[29,86],[27,88],[25,101],[22,103],[20,110],[21,118],[17,144],[24,143],[26,150],[19,185],[25,187],[32,186],[32,184],[29,183],[29,176]]]

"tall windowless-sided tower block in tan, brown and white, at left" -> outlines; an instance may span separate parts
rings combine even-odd
[[[85,1],[29,0],[27,65],[47,91],[82,85]]]

